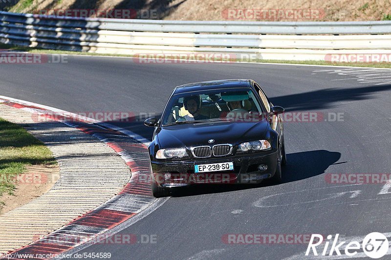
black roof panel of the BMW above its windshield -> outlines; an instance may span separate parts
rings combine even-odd
[[[174,94],[219,88],[249,88],[252,80],[210,80],[177,86]]]

